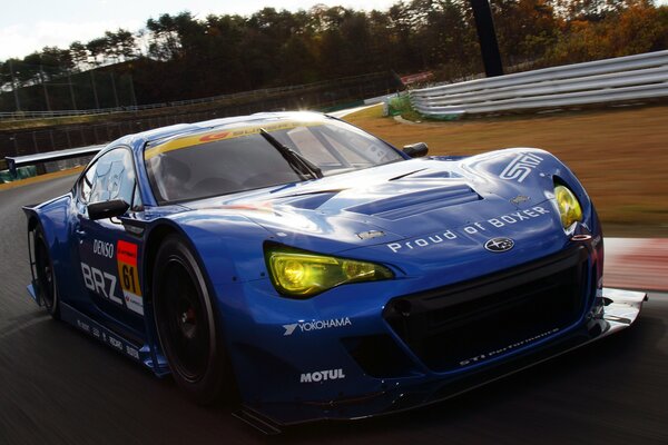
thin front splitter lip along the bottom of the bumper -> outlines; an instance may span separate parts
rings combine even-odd
[[[599,293],[600,296],[600,293]],[[632,325],[647,294],[640,291],[602,289],[603,310],[572,329],[530,348],[509,359],[481,366],[474,370],[445,375],[426,373],[412,378],[377,379],[374,387],[354,396],[324,400],[295,400],[291,403],[248,403],[239,417],[266,432],[279,431],[281,425],[293,425],[317,419],[356,419],[425,406],[474,389],[503,376],[514,374],[550,358],[566,354],[589,343],[605,338]]]

